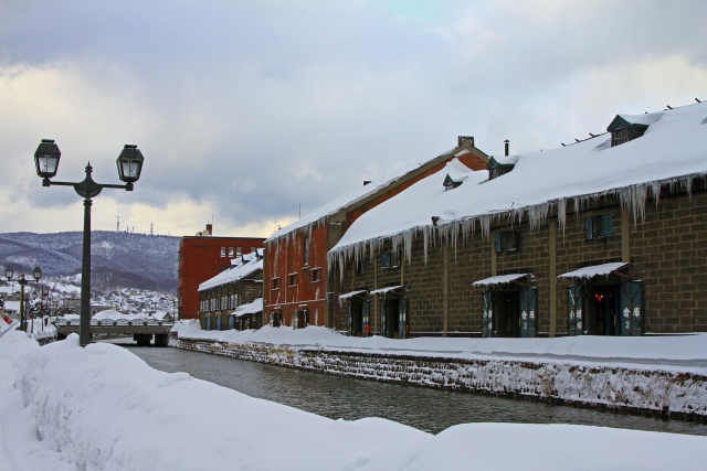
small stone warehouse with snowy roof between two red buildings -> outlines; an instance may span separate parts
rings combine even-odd
[[[203,330],[262,325],[263,249],[240,255],[231,264],[228,270],[199,286],[199,322]],[[252,309],[256,300],[260,310]]]

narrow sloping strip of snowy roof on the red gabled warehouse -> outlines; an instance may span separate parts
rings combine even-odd
[[[317,207],[316,210],[312,211],[310,213],[305,214],[304,216],[302,216],[299,220],[295,221],[294,223],[281,228],[279,231],[277,231],[276,233],[274,233],[273,235],[271,235],[270,237],[267,237],[267,239],[265,239],[265,243],[270,243],[273,242],[277,238],[281,238],[283,236],[286,236],[288,234],[294,234],[297,231],[300,231],[305,227],[312,227],[315,223],[321,223],[321,221],[328,216],[331,216],[336,213],[338,213],[339,211],[355,205],[361,201],[363,201],[365,199],[372,196],[374,194],[377,194],[380,190],[389,186],[391,183],[394,183],[399,180],[401,180],[402,178],[404,178],[405,175],[414,172],[415,170],[420,169],[421,167],[424,167],[435,160],[439,160],[441,158],[445,158],[445,157],[451,157],[452,154],[454,154],[455,157],[461,157],[463,154],[466,153],[471,153],[469,150],[467,149],[462,149],[458,150],[460,146],[423,162],[415,162],[415,163],[410,163],[408,165],[404,165],[378,180],[373,180],[372,182],[360,186],[349,193],[346,193],[333,201],[330,201],[329,203],[326,203],[319,207]],[[455,153],[454,153],[455,152]]]

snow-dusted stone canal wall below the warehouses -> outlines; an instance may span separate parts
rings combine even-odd
[[[640,366],[447,358],[180,338],[202,353],[313,372],[707,422],[707,376]]]

